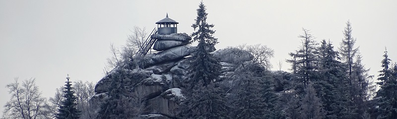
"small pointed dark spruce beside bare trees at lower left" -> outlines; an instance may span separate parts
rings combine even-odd
[[[76,108],[76,96],[74,95],[73,88],[71,87],[71,82],[69,81],[69,76],[66,77],[65,82],[64,98],[61,103],[61,107],[58,110],[59,113],[56,115],[57,119],[78,119],[80,118],[80,110]]]

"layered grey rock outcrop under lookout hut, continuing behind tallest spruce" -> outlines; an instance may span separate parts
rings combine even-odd
[[[142,68],[125,69],[120,66],[117,70],[102,78],[95,86],[97,93],[91,98],[91,103],[98,108],[108,98],[108,90],[111,88],[114,77],[122,77],[122,86],[131,89],[131,92],[138,97],[144,98],[145,109],[141,115],[146,119],[174,119],[178,106],[186,98],[181,87],[184,80],[188,79],[188,69],[191,59],[189,56],[195,47],[186,45],[192,38],[186,34],[152,35],[157,38],[155,43],[156,54],[148,54],[143,57],[145,63]],[[213,48],[214,50],[214,48]],[[236,49],[234,49],[236,50]],[[243,55],[234,54],[241,53]],[[221,78],[228,78],[234,75],[238,62],[252,60],[252,55],[246,51],[218,50],[212,52],[215,57],[221,59]]]

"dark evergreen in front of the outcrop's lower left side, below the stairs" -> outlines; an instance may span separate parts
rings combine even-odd
[[[139,119],[143,110],[143,99],[132,94],[129,87],[124,86],[130,75],[126,70],[115,70],[116,73],[108,75],[111,84],[108,88],[108,98],[101,105],[96,119]]]

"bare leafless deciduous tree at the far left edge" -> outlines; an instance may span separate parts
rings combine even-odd
[[[8,93],[11,94],[10,100],[4,105],[3,115],[10,119],[46,119],[48,113],[45,108],[47,101],[41,96],[39,87],[35,79],[24,80],[22,84],[18,78],[14,82],[7,84]]]

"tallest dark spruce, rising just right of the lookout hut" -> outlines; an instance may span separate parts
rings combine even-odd
[[[209,54],[209,48],[213,47],[217,43],[217,39],[212,36],[215,32],[209,28],[212,28],[213,24],[206,22],[207,14],[206,8],[203,2],[200,2],[199,8],[197,9],[196,23],[192,27],[197,31],[192,33],[194,37],[193,41],[199,41],[197,50],[192,53],[192,61],[190,70],[190,78],[193,83],[198,83],[199,80],[203,80],[203,86],[208,85],[211,81],[218,78],[220,75],[221,65],[216,57]]]

